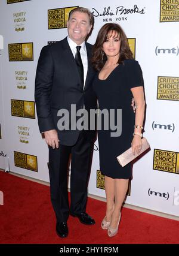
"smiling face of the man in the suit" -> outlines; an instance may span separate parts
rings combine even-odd
[[[91,31],[90,19],[87,13],[75,11],[67,22],[67,31],[70,39],[81,44]]]

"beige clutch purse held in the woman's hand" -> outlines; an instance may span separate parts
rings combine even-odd
[[[146,138],[142,138],[141,141],[142,141],[142,148],[140,150],[140,153],[138,153],[138,154],[135,153],[135,155],[133,155],[132,147],[129,147],[129,149],[127,149],[124,153],[122,153],[121,155],[117,156],[118,162],[119,162],[119,164],[122,165],[122,167],[124,167],[126,164],[128,164],[129,162],[134,160],[141,153],[143,153],[144,151],[149,149],[150,145],[149,145],[148,141],[146,140]]]

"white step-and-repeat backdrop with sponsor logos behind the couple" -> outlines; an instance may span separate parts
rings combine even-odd
[[[95,17],[89,43],[104,23],[119,23],[143,70],[151,150],[133,166],[126,203],[179,216],[179,0],[0,0],[0,167],[49,181],[34,102],[36,65],[44,45],[66,37],[67,16],[78,6]],[[97,141],[88,191],[105,197]]]

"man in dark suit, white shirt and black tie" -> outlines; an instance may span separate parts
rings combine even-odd
[[[57,218],[58,236],[68,235],[69,214],[82,224],[95,224],[86,213],[87,186],[95,131],[59,130],[57,112],[66,109],[71,120],[71,105],[76,111],[97,107],[92,90],[95,71],[90,65],[91,44],[85,42],[94,25],[87,8],[73,9],[67,22],[68,36],[42,48],[35,80],[35,102],[38,124],[49,146],[51,201]],[[79,47],[81,46],[81,47]],[[72,124],[70,124],[72,125]],[[72,153],[69,207],[67,168]]]

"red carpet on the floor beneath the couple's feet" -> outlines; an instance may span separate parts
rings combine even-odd
[[[105,203],[89,198],[87,212],[96,224],[89,227],[70,216],[69,236],[55,233],[55,215],[50,202],[50,187],[0,171],[0,243],[179,243],[179,221],[136,210],[122,210],[119,233],[108,237],[101,230]]]

